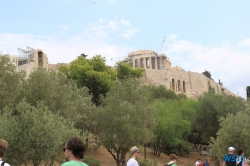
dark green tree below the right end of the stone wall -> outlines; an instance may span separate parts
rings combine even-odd
[[[198,99],[193,126],[201,133],[202,140],[206,143],[210,137],[216,138],[220,117],[226,117],[228,113],[236,114],[243,109],[244,101],[242,98],[208,91]]]

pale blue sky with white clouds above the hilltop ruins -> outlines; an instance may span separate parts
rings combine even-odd
[[[186,71],[208,70],[245,98],[250,85],[249,0],[0,0],[0,50],[43,49],[50,63],[101,54],[114,65],[162,51]]]

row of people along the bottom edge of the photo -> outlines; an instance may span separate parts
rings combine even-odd
[[[3,161],[8,148],[8,142],[0,139],[0,166],[10,166],[8,163]],[[71,137],[65,143],[63,148],[64,157],[66,162],[61,166],[88,166],[86,163],[82,162],[86,151],[86,146],[83,141],[77,137]],[[235,148],[229,147],[228,154],[224,156],[224,161],[222,166],[248,166],[248,161],[244,156],[243,150],[238,150],[238,156],[234,154]],[[127,162],[127,166],[139,166],[137,158],[140,154],[139,148],[133,146],[130,149],[131,158]],[[175,154],[169,155],[170,161],[164,166],[177,166],[177,156]],[[250,157],[249,157],[250,159]],[[197,159],[195,166],[210,166],[210,159],[207,158],[205,161]]]

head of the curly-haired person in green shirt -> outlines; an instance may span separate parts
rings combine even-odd
[[[64,157],[67,161],[72,158],[83,159],[84,153],[86,151],[86,146],[83,141],[77,137],[71,137],[65,144],[65,148],[63,148]]]

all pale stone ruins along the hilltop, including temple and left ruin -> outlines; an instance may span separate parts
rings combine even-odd
[[[18,48],[18,55],[9,57],[18,71],[26,71],[26,78],[38,67],[43,67],[47,71],[58,71],[59,67],[65,64],[49,64],[43,50],[31,47]],[[184,93],[188,97],[198,98],[212,87],[216,93],[235,95],[201,73],[185,71],[178,66],[172,67],[170,59],[165,54],[158,54],[152,50],[131,52],[123,61],[130,63],[133,68],[144,68],[145,76],[142,80],[146,84],[164,85],[177,94]]]

